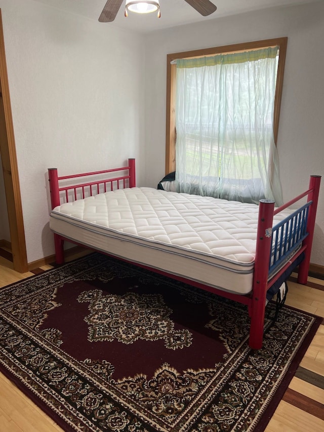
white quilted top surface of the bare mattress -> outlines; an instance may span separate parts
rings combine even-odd
[[[254,204],[142,187],[62,204],[52,216],[60,214],[224,260],[254,261],[258,220],[258,206]],[[274,224],[283,217],[277,215]]]

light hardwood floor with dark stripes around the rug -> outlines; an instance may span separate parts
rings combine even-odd
[[[81,253],[77,256],[85,255]],[[72,258],[76,258],[74,255]],[[50,265],[41,267],[43,270]],[[17,273],[0,256],[0,287],[33,272]],[[324,280],[308,278],[306,286],[289,282],[286,303],[324,317]],[[324,325],[309,346],[296,375],[270,419],[266,432],[319,432],[324,430]],[[62,429],[4,375],[0,374],[0,432],[57,432]]]

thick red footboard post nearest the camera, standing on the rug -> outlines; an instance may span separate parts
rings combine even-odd
[[[268,286],[269,260],[272,243],[273,211],[274,201],[260,201],[251,302],[249,345],[252,349],[262,348],[265,300]]]

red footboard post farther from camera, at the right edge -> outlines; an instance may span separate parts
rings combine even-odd
[[[313,236],[314,236],[320,179],[321,176],[310,176],[309,178],[309,189],[311,190],[308,193],[307,202],[312,201],[312,204],[309,207],[308,218],[307,218],[306,231],[308,232],[308,235],[306,239],[303,241],[303,246],[306,246],[305,258],[299,265],[298,278],[297,278],[297,282],[303,285],[307,284],[310,254],[312,250],[312,243],[313,243]]]

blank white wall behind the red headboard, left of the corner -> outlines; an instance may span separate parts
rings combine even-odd
[[[28,262],[53,254],[47,168],[137,159],[144,177],[143,36],[32,0],[1,0]]]

